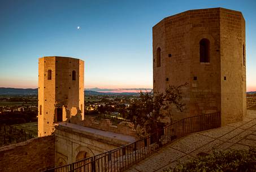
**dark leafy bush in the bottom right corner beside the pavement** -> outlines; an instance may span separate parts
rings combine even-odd
[[[165,172],[252,172],[256,171],[256,149],[216,151],[211,155],[199,156],[186,162],[178,164],[175,168],[165,170]]]

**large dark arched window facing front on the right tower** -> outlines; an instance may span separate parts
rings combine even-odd
[[[210,41],[206,38],[201,39],[200,45],[200,62],[210,62]]]

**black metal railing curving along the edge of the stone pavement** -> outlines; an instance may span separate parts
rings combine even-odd
[[[220,112],[184,118],[131,144],[112,149],[105,153],[55,167],[45,171],[56,172],[118,172],[144,160],[163,145],[190,133],[220,127]]]

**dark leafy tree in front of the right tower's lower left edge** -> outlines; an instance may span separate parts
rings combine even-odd
[[[164,117],[171,118],[171,105],[182,112],[185,104],[182,102],[181,87],[169,86],[165,93],[140,92],[140,99],[132,103],[128,109],[128,119],[132,121],[140,137],[153,134],[159,130],[159,122]]]

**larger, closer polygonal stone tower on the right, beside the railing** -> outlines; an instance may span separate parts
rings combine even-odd
[[[224,8],[189,10],[153,27],[154,91],[182,85],[186,109],[174,120],[221,112],[222,126],[246,114],[245,20]]]

